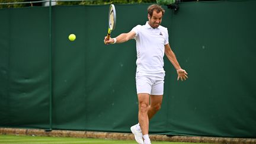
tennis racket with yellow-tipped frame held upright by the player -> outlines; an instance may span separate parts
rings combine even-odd
[[[110,9],[108,11],[108,33],[107,33],[107,40],[110,39],[111,31],[114,30],[116,26],[116,8],[113,4],[110,5]]]

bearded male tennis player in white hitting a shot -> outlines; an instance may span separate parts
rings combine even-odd
[[[136,40],[136,89],[139,101],[139,123],[130,129],[135,135],[136,142],[140,144],[151,143],[149,120],[161,108],[164,94],[164,54],[177,70],[177,80],[183,81],[188,78],[187,72],[181,68],[169,46],[167,28],[160,25],[164,12],[161,6],[150,5],[148,7],[148,21],[145,25],[136,25],[129,33],[122,33],[116,38],[107,40],[105,37],[104,39],[105,44]]]

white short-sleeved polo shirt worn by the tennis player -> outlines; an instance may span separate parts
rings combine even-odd
[[[148,21],[145,25],[136,25],[131,31],[135,31],[137,50],[137,72],[161,73],[164,71],[165,44],[169,43],[168,30],[159,25],[152,28]]]

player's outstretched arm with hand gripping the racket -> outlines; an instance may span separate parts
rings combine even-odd
[[[124,43],[130,39],[133,39],[136,36],[135,31],[130,31],[129,33],[122,33],[119,36],[117,36],[116,38],[110,38],[109,40],[107,40],[105,37],[104,39],[104,43],[105,44],[111,44],[114,43],[114,39],[116,39],[116,43]]]

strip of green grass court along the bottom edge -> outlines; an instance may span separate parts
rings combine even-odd
[[[17,135],[0,135],[0,143],[6,144],[136,144],[135,140],[111,140],[111,139],[87,139],[87,138],[75,138],[75,137],[46,137],[46,136],[17,136]],[[152,144],[195,144],[184,142],[152,142]],[[206,144],[206,143],[204,143]]]

